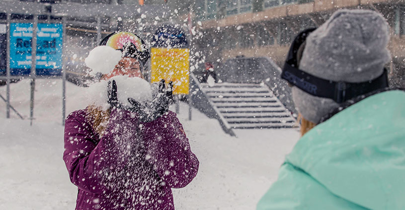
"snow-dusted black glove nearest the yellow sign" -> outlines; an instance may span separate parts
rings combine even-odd
[[[152,122],[168,111],[169,104],[172,101],[173,83],[169,82],[167,89],[164,80],[159,82],[159,93],[152,102],[141,105],[135,99],[128,98],[128,102],[133,106],[132,111],[139,114],[142,122]]]

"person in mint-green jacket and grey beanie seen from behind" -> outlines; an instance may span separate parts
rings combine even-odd
[[[387,21],[338,10],[301,32],[282,78],[301,139],[257,210],[405,209],[405,92],[389,88]]]

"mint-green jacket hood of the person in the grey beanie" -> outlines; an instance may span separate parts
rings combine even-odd
[[[405,209],[405,92],[370,96],[319,124],[286,162],[368,209]]]

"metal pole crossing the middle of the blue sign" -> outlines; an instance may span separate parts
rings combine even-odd
[[[30,100],[30,125],[34,117],[34,90],[35,90],[35,76],[36,76],[36,56],[37,56],[37,27],[38,15],[34,14],[34,24],[32,26],[32,45],[31,45],[31,100]]]

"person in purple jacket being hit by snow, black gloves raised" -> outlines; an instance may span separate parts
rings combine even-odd
[[[171,188],[190,183],[199,162],[168,110],[171,87],[161,81],[148,106],[132,98],[132,106],[124,106],[114,78],[143,78],[149,51],[128,32],[110,34],[100,45],[122,51],[122,59],[101,78],[109,80],[107,93],[100,89],[108,109],[88,105],[66,118],[63,159],[79,188],[76,210],[174,210]]]

